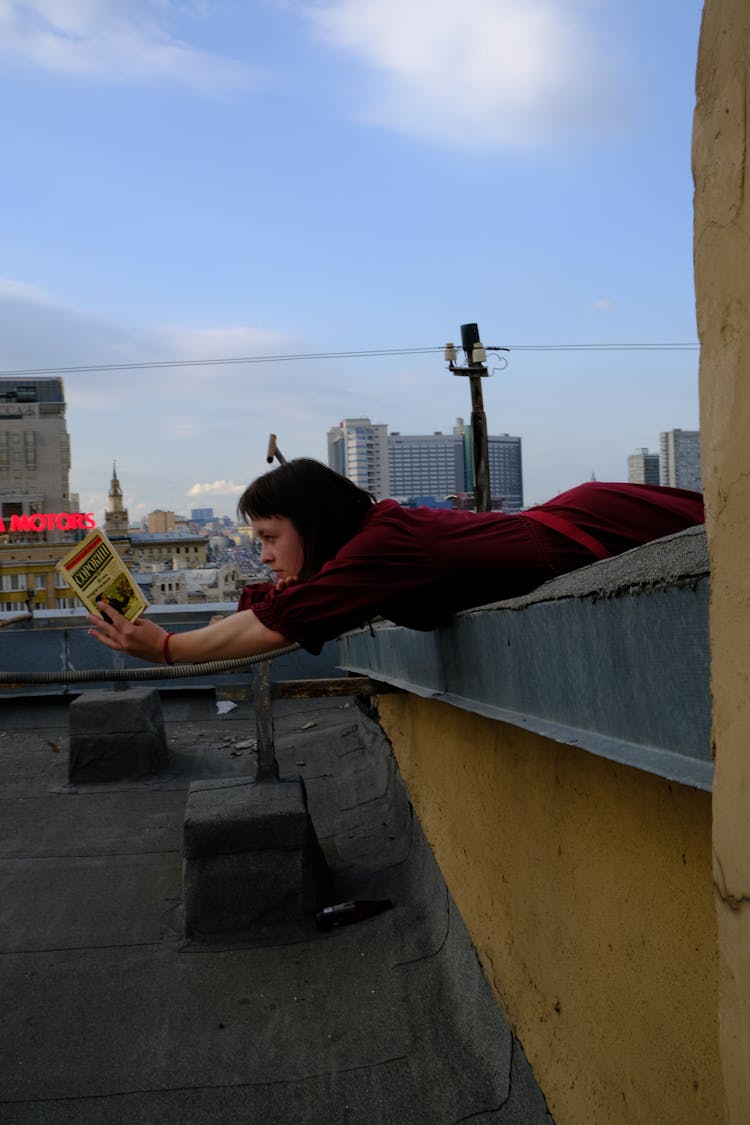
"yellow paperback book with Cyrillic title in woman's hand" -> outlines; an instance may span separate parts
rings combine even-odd
[[[90,613],[102,616],[97,602],[107,602],[128,621],[135,621],[148,603],[124,560],[100,528],[67,552],[57,570]]]

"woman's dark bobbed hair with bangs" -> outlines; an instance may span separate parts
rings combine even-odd
[[[356,534],[374,497],[320,461],[298,457],[245,488],[237,512],[246,520],[286,516],[302,541],[300,578],[310,578]]]

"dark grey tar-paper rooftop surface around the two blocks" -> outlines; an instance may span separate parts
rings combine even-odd
[[[69,701],[0,703],[2,1125],[551,1122],[481,973],[380,728],[352,700],[274,704],[332,902],[196,940],[182,925],[190,786],[254,775],[254,719],[163,694],[169,760],[71,784]]]

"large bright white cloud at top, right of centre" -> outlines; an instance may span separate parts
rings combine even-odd
[[[591,4],[327,0],[310,18],[371,68],[371,122],[457,147],[526,146],[620,119],[620,58]]]

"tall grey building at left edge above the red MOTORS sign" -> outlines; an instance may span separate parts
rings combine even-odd
[[[0,379],[3,522],[12,515],[70,511],[70,467],[63,380]],[[61,539],[57,530],[43,534],[53,542]]]

